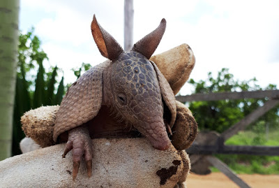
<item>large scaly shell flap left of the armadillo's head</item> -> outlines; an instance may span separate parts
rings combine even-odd
[[[70,86],[56,115],[55,142],[61,133],[96,117],[103,100],[103,71],[109,64],[106,61],[94,66]]]

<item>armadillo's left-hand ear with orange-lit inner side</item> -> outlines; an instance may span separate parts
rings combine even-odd
[[[119,43],[117,43],[117,41],[109,33],[107,33],[107,31],[105,31],[100,24],[98,24],[95,15],[93,16],[93,21],[91,22],[91,32],[103,57],[114,60],[121,55],[123,49]]]

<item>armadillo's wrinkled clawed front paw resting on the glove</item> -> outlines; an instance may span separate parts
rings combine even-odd
[[[91,177],[92,143],[89,136],[89,130],[86,127],[79,126],[69,131],[68,142],[66,143],[62,157],[65,158],[66,154],[70,152],[70,150],[73,150],[73,180],[77,177],[83,154],[87,166],[87,175],[88,177]]]

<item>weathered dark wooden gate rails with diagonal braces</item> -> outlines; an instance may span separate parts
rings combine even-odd
[[[255,122],[259,117],[279,105],[279,90],[220,92],[176,96],[176,100],[182,103],[189,101],[219,101],[225,99],[268,99],[268,101],[266,101],[263,106],[260,106],[242,120],[230,126],[229,129],[218,135],[216,137],[216,141],[214,141],[215,144],[208,145],[206,142],[204,142],[204,144],[198,144],[194,141],[193,145],[189,147],[186,152],[188,152],[188,154],[209,155],[206,157],[207,161],[227,175],[227,177],[233,180],[236,185],[239,185],[239,187],[249,187],[246,182],[237,177],[237,175],[235,175],[228,166],[223,164],[216,157],[211,156],[211,154],[279,155],[279,146],[225,145],[225,140],[234,136],[234,134],[239,131],[244,130],[249,124]],[[209,134],[205,138],[205,140],[212,140]]]

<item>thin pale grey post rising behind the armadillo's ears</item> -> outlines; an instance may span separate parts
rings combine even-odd
[[[124,1],[124,50],[133,47],[134,8],[133,0]]]

